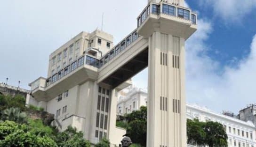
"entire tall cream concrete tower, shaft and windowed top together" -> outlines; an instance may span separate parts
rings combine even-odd
[[[149,0],[152,14],[138,17],[148,38],[147,147],[186,147],[185,40],[196,15],[184,0]]]

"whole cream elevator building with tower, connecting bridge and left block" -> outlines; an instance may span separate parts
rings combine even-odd
[[[60,130],[72,125],[94,144],[105,136],[117,146],[125,134],[115,125],[117,93],[148,67],[147,147],[185,147],[184,43],[196,23],[184,0],[148,0],[137,28],[115,46],[96,30],[51,53],[48,77],[29,84],[27,102],[54,113]]]

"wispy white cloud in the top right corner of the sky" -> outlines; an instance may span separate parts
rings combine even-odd
[[[227,22],[241,22],[256,8],[256,0],[200,0],[200,4],[212,7],[214,13]]]

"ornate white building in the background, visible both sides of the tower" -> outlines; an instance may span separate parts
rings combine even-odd
[[[123,90],[121,95],[117,104],[117,114],[131,113],[133,110],[139,110],[141,106],[146,106],[147,93],[143,89],[129,87]],[[186,118],[189,119],[223,124],[228,135],[228,147],[256,147],[256,128],[251,121],[241,121],[196,104],[186,104],[186,112]]]

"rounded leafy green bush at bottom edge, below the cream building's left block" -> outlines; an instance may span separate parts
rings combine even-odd
[[[90,147],[90,142],[83,138],[83,132],[77,132],[72,126],[57,134],[56,143],[58,147]]]

